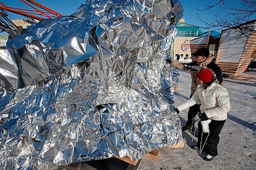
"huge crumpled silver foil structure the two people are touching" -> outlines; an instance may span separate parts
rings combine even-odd
[[[183,140],[165,59],[179,1],[87,1],[0,51],[0,168],[142,158]]]

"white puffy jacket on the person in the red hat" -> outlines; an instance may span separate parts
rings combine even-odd
[[[201,104],[201,113],[205,112],[207,117],[212,120],[227,119],[227,112],[230,110],[228,91],[218,83],[211,83],[206,89],[199,85],[192,98],[177,109],[181,111],[195,104]]]

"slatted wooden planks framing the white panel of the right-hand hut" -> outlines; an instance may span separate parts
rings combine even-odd
[[[217,56],[216,63],[222,72],[230,76],[241,75],[254,57],[256,51],[256,31],[253,31],[245,45],[244,52],[239,62],[220,62]]]

